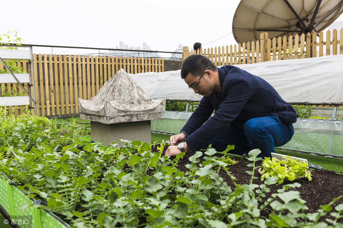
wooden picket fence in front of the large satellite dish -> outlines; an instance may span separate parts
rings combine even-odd
[[[294,37],[268,38],[268,33],[261,33],[260,40],[256,42],[247,42],[243,44],[226,45],[225,47],[215,47],[193,51],[184,46],[182,61],[189,55],[199,54],[208,57],[216,66],[251,64],[275,60],[311,58],[324,55],[343,54],[343,28],[340,30],[340,40],[337,39],[337,30],[324,33],[307,33],[295,35]],[[300,41],[300,42],[299,42]],[[339,44],[339,50],[338,50]]]

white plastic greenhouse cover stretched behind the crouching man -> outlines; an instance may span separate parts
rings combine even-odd
[[[235,65],[268,81],[290,104],[343,105],[343,55]],[[180,70],[130,76],[152,98],[200,101]]]

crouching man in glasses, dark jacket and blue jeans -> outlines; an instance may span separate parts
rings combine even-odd
[[[271,157],[291,140],[296,112],[262,78],[231,65],[217,68],[202,55],[185,59],[181,78],[203,98],[180,134],[170,137],[165,155],[212,144],[217,151],[234,145],[230,152],[238,155],[259,148],[261,157]]]

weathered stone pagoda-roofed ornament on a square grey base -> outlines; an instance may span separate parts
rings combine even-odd
[[[152,99],[120,69],[93,99],[79,98],[78,104],[80,118],[91,121],[94,142],[110,145],[125,139],[151,144],[151,120],[165,118],[166,98]]]

